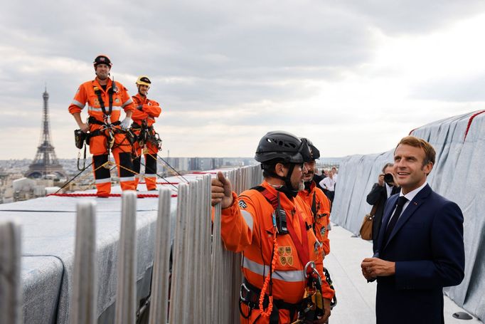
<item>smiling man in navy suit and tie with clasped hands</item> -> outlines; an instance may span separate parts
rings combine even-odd
[[[463,215],[426,182],[435,150],[408,136],[394,152],[400,194],[388,199],[373,258],[361,263],[377,279],[378,324],[444,323],[442,288],[464,277]]]

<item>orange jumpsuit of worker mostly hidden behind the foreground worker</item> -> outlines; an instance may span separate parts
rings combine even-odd
[[[330,224],[330,200],[320,188],[316,187],[312,180],[310,189],[298,192],[304,202],[310,207],[311,214],[314,216],[314,226],[316,238],[319,239],[324,248],[324,256],[330,253],[329,224]],[[315,210],[314,210],[315,209]]]

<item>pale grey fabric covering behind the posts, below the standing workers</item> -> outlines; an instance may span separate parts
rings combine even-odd
[[[98,301],[101,315],[113,305],[117,282],[117,248],[121,198],[43,197],[0,205],[0,219],[16,219],[22,229],[24,323],[68,323],[75,208],[80,199],[97,202]],[[176,199],[171,214],[175,216]],[[137,199],[137,281],[139,293],[151,276],[158,199]],[[148,278],[149,282],[149,278]],[[139,296],[139,297],[144,297]]]

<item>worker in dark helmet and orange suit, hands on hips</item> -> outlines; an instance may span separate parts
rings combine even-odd
[[[112,63],[108,56],[97,56],[93,64],[96,78],[79,86],[69,106],[69,113],[74,116],[82,132],[89,132],[87,138],[97,195],[108,197],[111,192],[110,165],[107,164],[110,151],[118,166],[122,190],[134,190],[132,144],[125,135],[132,123],[134,104],[127,89],[110,79]],[[90,117],[87,122],[82,122],[81,111],[86,104]],[[126,113],[122,121],[121,110]]]

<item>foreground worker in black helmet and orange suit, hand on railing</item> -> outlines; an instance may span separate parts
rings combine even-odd
[[[323,250],[298,197],[308,146],[289,132],[268,132],[255,160],[265,178],[260,186],[238,197],[221,172],[211,186],[225,248],[243,254],[240,323],[326,323],[334,291],[321,280]]]

